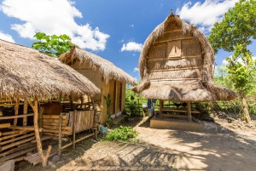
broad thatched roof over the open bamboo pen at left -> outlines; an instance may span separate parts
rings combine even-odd
[[[38,50],[0,40],[0,98],[99,94],[79,72]]]

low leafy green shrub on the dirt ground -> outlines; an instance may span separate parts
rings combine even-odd
[[[128,141],[137,137],[137,131],[131,127],[123,127],[113,129],[103,137],[103,140],[109,141]]]

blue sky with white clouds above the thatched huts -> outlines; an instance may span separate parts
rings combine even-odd
[[[237,0],[3,0],[0,39],[31,47],[37,31],[67,34],[73,43],[113,62],[139,78],[137,65],[143,43],[173,9],[209,35],[212,25]],[[254,41],[250,49],[256,56]],[[218,65],[230,53],[215,55]]]

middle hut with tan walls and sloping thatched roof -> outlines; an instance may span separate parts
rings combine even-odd
[[[81,48],[73,47],[66,54],[61,54],[59,60],[88,77],[92,83],[95,83],[101,89],[101,94],[92,98],[102,105],[102,108],[99,108],[102,111],[101,123],[108,121],[104,96],[110,95],[112,105],[109,112],[112,117],[117,117],[124,111],[125,85],[137,85],[137,81],[133,77],[119,67],[114,66],[110,61]]]

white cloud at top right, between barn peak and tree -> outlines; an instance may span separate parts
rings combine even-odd
[[[183,20],[201,26],[201,30],[209,32],[215,22],[223,19],[224,13],[233,8],[239,0],[206,0],[204,3],[191,2],[185,3],[181,9],[177,9],[176,13]]]

